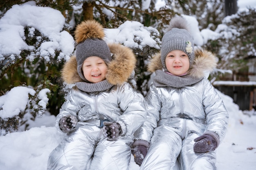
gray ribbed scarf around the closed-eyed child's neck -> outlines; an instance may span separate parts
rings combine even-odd
[[[110,89],[114,85],[108,83],[107,80],[103,80],[98,83],[86,83],[83,81],[79,81],[76,82],[76,86],[84,92],[102,92]]]

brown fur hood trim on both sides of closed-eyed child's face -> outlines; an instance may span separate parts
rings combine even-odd
[[[112,85],[121,85],[128,81],[128,78],[135,69],[136,58],[132,50],[121,44],[108,44],[113,54],[112,61],[108,63],[106,80]],[[76,57],[72,56],[61,71],[63,81],[67,84],[74,84],[83,81],[77,72]]]

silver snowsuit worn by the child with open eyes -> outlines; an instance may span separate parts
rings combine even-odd
[[[135,139],[150,146],[141,170],[175,170],[177,165],[182,170],[216,169],[215,151],[193,151],[193,139],[204,132],[216,133],[220,143],[227,130],[227,110],[206,78],[180,88],[152,84],[144,103],[147,118]]]

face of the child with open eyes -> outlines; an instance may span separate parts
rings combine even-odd
[[[166,55],[165,64],[171,74],[179,76],[189,70],[189,57],[181,50],[173,50]]]

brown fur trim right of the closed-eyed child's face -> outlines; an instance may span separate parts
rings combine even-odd
[[[106,79],[113,85],[123,84],[128,81],[135,68],[136,58],[132,50],[120,44],[108,44],[110,51],[115,54],[114,59],[108,64]]]

